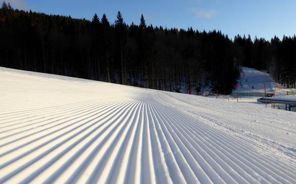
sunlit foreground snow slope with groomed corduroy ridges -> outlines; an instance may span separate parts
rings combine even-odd
[[[296,114],[0,68],[0,183],[296,183]]]

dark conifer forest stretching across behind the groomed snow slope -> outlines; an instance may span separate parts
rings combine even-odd
[[[157,90],[200,93],[211,86],[229,94],[241,66],[266,70],[295,87],[296,37],[234,40],[221,31],[198,31],[0,9],[0,66]]]

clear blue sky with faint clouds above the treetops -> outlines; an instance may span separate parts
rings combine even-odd
[[[2,0],[0,0],[2,1]],[[163,27],[193,27],[221,30],[230,38],[250,34],[270,40],[274,35],[296,33],[295,0],[6,0],[14,7],[48,14],[71,15],[91,19],[105,13],[114,22],[120,11],[126,23],[139,23],[143,13],[146,23]]]

